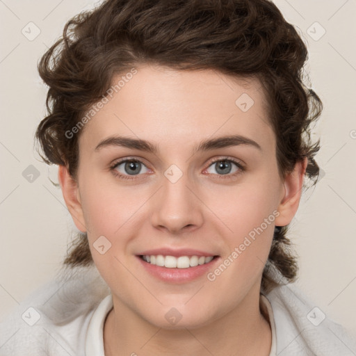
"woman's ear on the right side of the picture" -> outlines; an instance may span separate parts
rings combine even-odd
[[[298,161],[293,172],[289,173],[284,180],[284,195],[282,196],[278,211],[279,216],[275,219],[276,226],[286,226],[296,215],[302,196],[302,185],[307,169],[308,159]]]

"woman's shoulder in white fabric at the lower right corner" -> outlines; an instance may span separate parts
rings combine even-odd
[[[277,355],[356,355],[356,342],[295,284],[264,294],[273,309]]]

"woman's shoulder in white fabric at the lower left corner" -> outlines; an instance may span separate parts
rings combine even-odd
[[[58,275],[1,321],[0,355],[84,355],[90,318],[108,293],[96,268]]]

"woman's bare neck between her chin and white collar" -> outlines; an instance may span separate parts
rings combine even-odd
[[[175,330],[148,323],[113,297],[114,308],[104,325],[105,355],[268,356],[270,325],[261,313],[257,291],[207,325]]]

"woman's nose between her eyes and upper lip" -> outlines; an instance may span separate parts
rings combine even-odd
[[[203,223],[203,204],[197,196],[197,187],[189,181],[188,175],[184,174],[175,183],[163,177],[163,186],[156,193],[152,205],[152,226],[171,234],[198,229]]]

